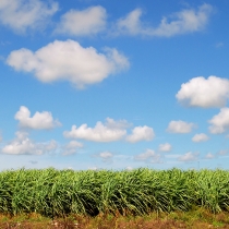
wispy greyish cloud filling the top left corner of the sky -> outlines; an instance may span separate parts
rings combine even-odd
[[[48,17],[58,11],[58,3],[40,0],[1,0],[0,23],[16,33],[47,24]]]

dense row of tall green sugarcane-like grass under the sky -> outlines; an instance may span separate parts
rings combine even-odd
[[[0,172],[0,213],[45,216],[229,210],[229,171],[7,170]]]

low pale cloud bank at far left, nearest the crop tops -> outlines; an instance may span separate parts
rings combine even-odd
[[[26,132],[16,132],[16,137],[2,148],[3,154],[12,155],[43,155],[57,148],[57,142],[36,143]]]

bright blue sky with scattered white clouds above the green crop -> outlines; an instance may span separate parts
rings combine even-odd
[[[0,0],[0,170],[229,169],[228,0]]]

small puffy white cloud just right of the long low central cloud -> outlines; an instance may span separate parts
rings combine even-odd
[[[136,126],[132,130],[132,134],[126,136],[126,141],[130,143],[136,143],[140,141],[150,141],[155,136],[154,130],[148,128],[147,125],[144,126]]]

